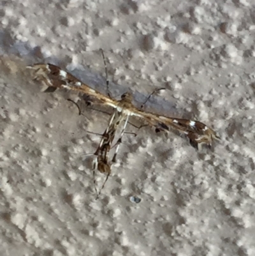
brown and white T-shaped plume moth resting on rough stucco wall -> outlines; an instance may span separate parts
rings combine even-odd
[[[122,136],[125,133],[129,117],[131,116],[135,116],[138,119],[141,119],[144,123],[149,124],[149,126],[154,127],[156,132],[173,131],[180,133],[180,135],[184,135],[184,137],[187,137],[189,140],[191,146],[196,149],[200,149],[203,144],[210,148],[214,140],[219,140],[219,136],[214,132],[214,130],[200,121],[161,116],[152,112],[146,112],[142,107],[136,107],[132,103],[133,97],[131,93],[124,93],[120,100],[115,100],[110,97],[110,95],[106,96],[99,93],[99,91],[92,89],[87,84],[84,84],[82,81],[71,75],[71,73],[61,70],[61,68],[53,64],[39,63],[27,66],[27,68],[33,71],[35,80],[39,80],[43,83],[42,91],[44,92],[54,92],[58,88],[78,91],[85,95],[87,102],[107,105],[114,109],[108,126],[102,135],[101,141],[99,142],[98,149],[96,149],[96,152],[92,154],[94,156],[93,177],[96,199],[98,199],[101,190],[104,188],[105,183],[111,174],[112,163],[116,160]],[[152,94],[150,94],[150,96]],[[147,100],[149,100],[150,96]],[[147,100],[145,102],[147,102]],[[122,124],[123,126],[121,126]],[[109,160],[109,153],[113,147],[113,140],[115,139],[115,135],[119,127],[122,127],[120,137],[115,145],[116,149],[113,158],[112,160]],[[105,181],[103,182],[99,192],[96,188],[96,170],[106,174]]]

